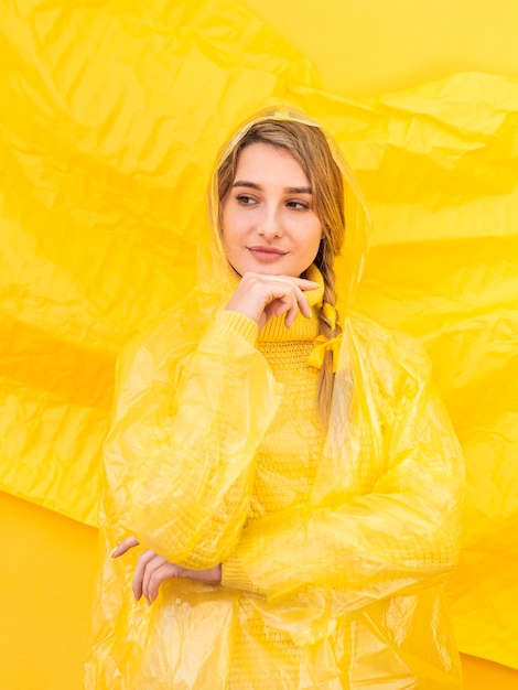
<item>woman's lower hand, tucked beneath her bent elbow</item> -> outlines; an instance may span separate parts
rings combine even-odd
[[[114,558],[123,556],[139,542],[134,537],[128,537],[119,543],[111,554]],[[208,570],[190,570],[171,563],[163,556],[148,549],[139,556],[137,568],[134,569],[132,590],[134,599],[138,601],[142,594],[148,603],[154,602],[159,595],[160,585],[171,578],[190,578],[209,584],[219,584],[222,581],[222,567],[215,565]]]

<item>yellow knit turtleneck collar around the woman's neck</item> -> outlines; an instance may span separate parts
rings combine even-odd
[[[311,319],[306,319],[301,313],[292,325],[287,328],[284,325],[285,314],[271,319],[259,333],[258,342],[282,343],[288,341],[313,341],[319,335],[319,310],[324,298],[324,279],[316,266],[311,265],[305,271],[305,278],[319,283],[315,290],[307,290],[304,297],[311,306]]]

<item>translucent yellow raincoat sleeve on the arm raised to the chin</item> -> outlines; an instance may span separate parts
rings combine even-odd
[[[120,362],[105,444],[109,517],[121,537],[205,569],[239,538],[278,385],[246,316],[217,313],[191,352],[175,347],[179,328],[171,316]]]

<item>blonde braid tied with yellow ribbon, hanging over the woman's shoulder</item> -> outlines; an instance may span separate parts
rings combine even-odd
[[[336,337],[342,333],[342,327],[337,323],[338,314],[336,314],[336,325],[333,327],[328,316],[324,312],[324,304],[327,303],[335,309],[336,294],[335,294],[335,272],[333,269],[334,255],[328,249],[328,242],[322,241],[321,251],[319,252],[316,261],[319,269],[324,279],[324,299],[322,306],[319,311],[319,333],[325,335],[326,338]],[[316,405],[319,408],[319,417],[324,428],[327,428],[327,422],[331,413],[331,399],[333,396],[333,385],[335,375],[333,374],[333,353],[326,352],[324,355],[324,362],[320,370],[319,384],[316,388]]]

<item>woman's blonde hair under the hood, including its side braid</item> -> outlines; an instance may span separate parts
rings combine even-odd
[[[219,231],[222,231],[223,203],[230,192],[239,154],[246,147],[259,142],[289,151],[300,163],[311,183],[315,212],[323,230],[314,260],[324,279],[324,302],[319,311],[319,333],[327,338],[335,337],[342,328],[337,320],[336,324],[333,324],[324,313],[324,303],[336,308],[334,260],[339,255],[345,238],[344,183],[321,129],[295,120],[279,119],[266,119],[250,126],[238,144],[224,157],[217,170]],[[327,352],[316,391],[319,417],[324,427],[327,425],[330,418],[333,384],[333,355]]]

